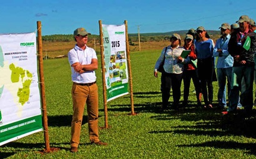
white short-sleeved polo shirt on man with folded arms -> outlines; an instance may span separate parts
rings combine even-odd
[[[81,65],[89,65],[92,63],[92,59],[97,59],[96,52],[91,47],[86,49],[81,49],[77,45],[69,51],[67,54],[69,58],[69,64],[72,65],[76,62],[79,62]],[[71,66],[71,77],[72,81],[79,84],[87,84],[96,81],[96,74],[94,71],[86,71],[82,74],[79,74]]]

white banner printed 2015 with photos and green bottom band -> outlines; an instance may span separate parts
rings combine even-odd
[[[126,25],[102,24],[107,102],[128,94]]]

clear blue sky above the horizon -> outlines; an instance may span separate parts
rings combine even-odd
[[[42,35],[72,34],[77,27],[99,35],[102,24],[124,24],[128,32],[169,32],[204,26],[219,30],[242,15],[256,20],[256,1],[170,1],[170,0],[8,0],[1,1],[0,34],[34,32],[37,21]]]

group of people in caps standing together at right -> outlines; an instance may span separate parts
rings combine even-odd
[[[227,111],[222,113],[236,113],[242,106],[245,113],[252,112],[253,82],[256,79],[255,21],[244,15],[231,26],[228,23],[221,24],[219,29],[221,36],[216,42],[210,39],[203,26],[197,27],[196,30],[189,29],[184,39],[184,46],[180,46],[179,34],[170,37],[170,46],[162,50],[154,70],[154,76],[157,77],[158,69],[162,66],[164,68],[160,86],[162,110],[169,106],[170,89],[174,101],[171,108],[177,109],[187,105],[192,79],[199,107],[213,108],[212,82],[218,81],[218,107],[228,107]],[[190,53],[182,58],[182,52],[185,50],[189,50]],[[182,79],[184,101],[179,105]],[[226,85],[229,105],[227,105]],[[201,102],[202,96],[204,104]]]

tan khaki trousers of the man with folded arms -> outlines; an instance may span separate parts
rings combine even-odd
[[[78,147],[84,106],[87,107],[89,137],[91,142],[99,142],[98,132],[98,87],[93,85],[72,85],[73,116],[71,122],[71,147]]]

